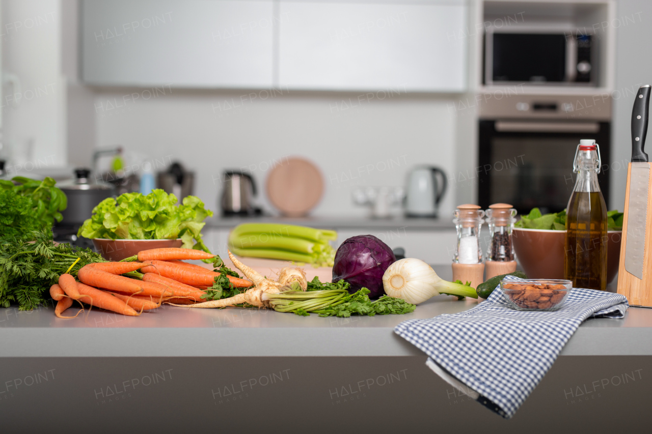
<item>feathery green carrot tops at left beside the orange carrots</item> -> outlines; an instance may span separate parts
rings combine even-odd
[[[27,242],[26,238],[35,242]],[[75,249],[70,244],[55,246],[52,231],[29,233],[29,237],[0,239],[0,306],[18,303],[19,310],[32,310],[50,298],[47,291],[57,283],[59,275],[80,259],[70,270],[77,272],[84,265],[104,262],[102,256],[89,249]]]

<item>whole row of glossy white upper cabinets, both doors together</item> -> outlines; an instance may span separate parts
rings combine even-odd
[[[466,0],[82,0],[93,85],[462,92]]]

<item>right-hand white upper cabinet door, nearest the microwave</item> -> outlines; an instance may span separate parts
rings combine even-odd
[[[280,1],[280,87],[462,92],[466,17],[466,1]]]

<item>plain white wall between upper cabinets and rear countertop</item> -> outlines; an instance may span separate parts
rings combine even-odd
[[[248,169],[263,186],[273,162],[303,156],[325,180],[314,215],[366,215],[351,200],[358,186],[403,186],[419,164],[452,176],[456,119],[449,100],[400,89],[391,96],[102,89],[95,97],[96,144],[119,143],[161,162],[180,160],[196,171],[195,192],[215,210],[224,169]],[[451,190],[441,215],[451,216],[454,204]]]

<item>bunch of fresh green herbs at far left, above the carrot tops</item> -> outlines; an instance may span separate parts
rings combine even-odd
[[[55,187],[50,177],[43,181],[14,177],[12,181],[0,180],[0,222],[14,229],[0,228],[0,236],[28,236],[38,229],[51,229],[55,220],[61,222],[61,212],[68,199]],[[23,197],[24,199],[16,199]],[[25,210],[29,208],[29,212]],[[35,223],[36,222],[36,223]]]

